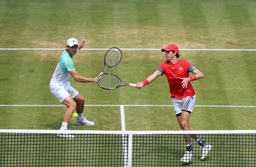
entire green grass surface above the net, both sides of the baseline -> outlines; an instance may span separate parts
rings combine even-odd
[[[110,69],[136,83],[165,61],[160,48],[167,43],[176,43],[181,49],[255,49],[255,9],[256,2],[250,0],[2,0],[0,48],[65,49],[69,37],[81,40],[83,36],[85,48],[159,48],[123,50],[120,65]],[[0,105],[58,104],[48,87],[61,53],[0,50]],[[97,76],[104,53],[80,51],[74,57],[77,71]],[[196,105],[256,106],[255,51],[181,50],[181,58],[194,63],[205,76],[193,82]],[[70,80],[87,105],[171,105],[165,76],[142,90],[124,87],[108,91],[95,83]],[[56,130],[65,109],[0,106],[0,129]],[[179,130],[172,107],[125,106],[124,111],[126,130]],[[119,106],[86,106],[85,113],[95,126],[75,126],[72,118],[71,130],[121,130]],[[196,107],[190,120],[196,130],[255,130],[255,113],[255,107]],[[163,149],[159,146],[159,150]]]

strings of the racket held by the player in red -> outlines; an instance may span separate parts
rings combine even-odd
[[[101,77],[99,78],[99,81],[97,83],[101,88],[114,89],[114,88],[120,86],[121,81],[115,75],[103,74],[103,75],[101,75]]]

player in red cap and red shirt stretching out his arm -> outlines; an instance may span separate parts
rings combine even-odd
[[[196,93],[191,81],[203,78],[204,74],[189,61],[179,59],[179,47],[177,45],[169,44],[167,47],[161,49],[161,51],[165,52],[166,61],[161,63],[158,69],[144,81],[136,83],[136,88],[140,89],[151,83],[151,81],[154,81],[160,75],[165,74],[169,83],[171,100],[180,128],[182,130],[194,130],[189,125],[189,117],[196,103]],[[194,75],[189,77],[189,73],[194,73]],[[181,161],[185,163],[193,160],[191,138],[194,138],[200,145],[200,148],[202,148],[201,160],[204,160],[208,152],[212,149],[212,146],[206,144],[199,135],[185,135],[186,151],[183,158],[181,158]]]

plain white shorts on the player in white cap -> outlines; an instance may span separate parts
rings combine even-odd
[[[69,96],[75,98],[75,96],[79,94],[79,92],[77,92],[77,90],[75,90],[69,82],[65,85],[50,82],[50,92],[52,92],[53,96],[55,96],[60,103],[62,103]]]

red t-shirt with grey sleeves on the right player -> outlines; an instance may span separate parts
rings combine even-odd
[[[182,88],[181,77],[189,77],[189,71],[194,71],[194,67],[185,59],[177,59],[177,63],[171,64],[167,61],[159,65],[159,71],[165,74],[169,82],[171,98],[182,99],[187,96],[193,97],[196,93],[191,82],[187,83],[187,88]]]

